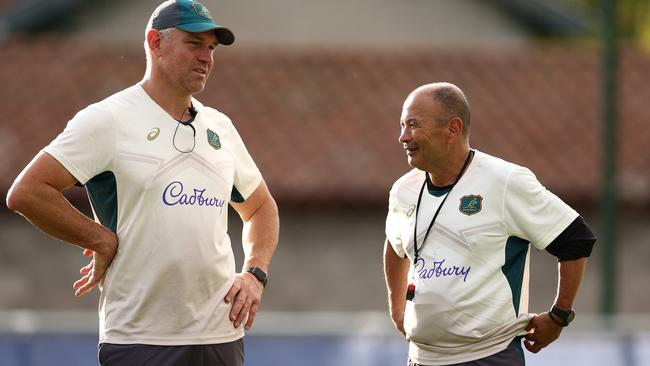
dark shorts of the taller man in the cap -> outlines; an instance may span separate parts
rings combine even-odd
[[[243,366],[244,339],[190,346],[99,345],[101,366]]]

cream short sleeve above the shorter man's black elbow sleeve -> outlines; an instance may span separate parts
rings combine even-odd
[[[578,213],[547,190],[526,168],[517,167],[507,181],[504,221],[511,235],[546,248]]]

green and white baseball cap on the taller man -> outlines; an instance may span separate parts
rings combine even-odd
[[[227,46],[235,41],[230,29],[215,23],[208,9],[194,0],[167,0],[154,10],[149,28],[163,30],[172,27],[191,33],[214,29],[219,44]]]

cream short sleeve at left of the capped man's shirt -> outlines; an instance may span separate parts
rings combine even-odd
[[[115,123],[110,110],[94,104],[81,110],[43,151],[81,184],[112,168]]]

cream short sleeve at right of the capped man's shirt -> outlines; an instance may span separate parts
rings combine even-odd
[[[262,182],[260,173],[255,161],[248,153],[244,141],[239,136],[235,126],[231,126],[232,152],[235,163],[235,176],[233,180],[233,190],[231,200],[234,202],[243,202],[248,198]]]

